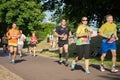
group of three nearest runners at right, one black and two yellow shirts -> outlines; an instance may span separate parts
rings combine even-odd
[[[91,40],[91,29],[88,26],[88,18],[82,17],[81,22],[78,25],[78,28],[76,30],[76,51],[77,56],[72,61],[71,64],[71,70],[73,71],[76,67],[76,64],[79,60],[82,58],[85,59],[85,73],[90,74],[89,70],[89,53],[90,53],[90,40]],[[104,59],[106,57],[107,51],[111,51],[112,53],[112,67],[111,72],[118,72],[118,69],[116,69],[116,40],[118,40],[117,36],[117,28],[116,24],[113,22],[113,16],[112,15],[106,15],[106,22],[102,24],[98,31],[98,35],[103,37],[102,43],[101,43],[101,64],[100,64],[100,70],[105,71],[104,67]],[[58,37],[58,47],[59,47],[59,63],[62,64],[62,54],[63,49],[65,52],[65,65],[68,66],[68,37],[71,39],[73,38],[73,35],[71,33],[70,28],[66,25],[66,20],[62,19],[61,25],[56,28],[55,36]]]

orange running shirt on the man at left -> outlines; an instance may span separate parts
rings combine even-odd
[[[18,45],[18,37],[20,35],[20,32],[19,30],[17,29],[10,29],[8,32],[7,32],[7,35],[8,35],[8,44],[9,45],[13,45],[13,46],[17,46]]]

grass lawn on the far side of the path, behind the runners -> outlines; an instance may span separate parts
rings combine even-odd
[[[96,49],[97,47],[101,47],[101,40],[102,38],[97,36],[97,37],[93,37],[91,39],[91,44],[90,44],[90,54],[91,52]],[[120,68],[120,40],[117,41],[117,67]],[[50,49],[50,45],[48,45],[46,43],[46,40],[41,41],[38,45],[37,45],[37,49]],[[69,60],[73,60],[76,57],[76,50],[75,50],[75,44],[72,44],[69,46]],[[39,52],[38,54],[43,55],[43,56],[47,56],[47,57],[53,57],[53,58],[58,58],[58,51],[56,52],[49,52],[49,51],[43,51],[43,52]],[[64,55],[63,55],[64,58]],[[83,62],[83,60],[82,60]],[[100,64],[100,56],[97,57],[90,57],[90,63],[91,64]],[[105,58],[105,65],[106,66],[111,66],[111,53],[108,52],[106,58]]]

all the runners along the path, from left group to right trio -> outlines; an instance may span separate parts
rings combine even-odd
[[[16,54],[19,53],[20,57],[23,56],[23,46],[24,42],[27,43],[27,52],[33,53],[33,56],[36,56],[36,44],[38,43],[38,39],[33,32],[32,35],[28,34],[25,36],[22,33],[22,30],[18,30],[16,23],[12,24],[12,28],[7,31],[6,34],[4,34],[2,38],[3,43],[3,51],[6,53],[6,50],[8,48],[9,55],[8,59],[12,64],[15,64],[16,60]],[[82,17],[81,22],[78,25],[78,28],[76,30],[76,51],[77,56],[71,63],[71,70],[75,70],[75,66],[79,60],[82,58],[85,59],[85,73],[90,74],[89,70],[89,53],[90,53],[90,40],[91,40],[91,29],[88,26],[88,18]],[[116,40],[118,40],[117,36],[117,29],[116,24],[113,22],[113,16],[112,15],[106,15],[106,22],[102,24],[102,26],[99,29],[99,33],[102,39],[101,44],[101,52],[102,55],[100,57],[101,64],[100,64],[100,70],[105,71],[104,67],[104,59],[106,57],[107,51],[110,50],[112,53],[112,67],[111,72],[118,72],[118,69],[116,69]],[[61,25],[56,28],[54,32],[54,36],[58,38],[58,47],[59,47],[59,64],[63,63],[62,60],[62,54],[65,53],[65,66],[69,65],[69,39],[70,42],[73,41],[73,35],[72,32],[67,26],[66,20],[61,20]],[[52,37],[52,36],[51,36]],[[49,42],[49,40],[48,40]],[[51,43],[50,43],[51,44]],[[55,46],[55,43],[52,47]],[[8,46],[8,47],[7,47]]]

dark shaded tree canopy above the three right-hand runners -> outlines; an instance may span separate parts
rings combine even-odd
[[[112,14],[119,21],[119,0],[43,0],[45,9],[55,10],[53,19],[66,18],[69,24],[76,26],[81,17],[87,16],[94,19],[96,15],[100,25],[106,14]],[[61,8],[63,6],[63,8]],[[46,8],[47,7],[47,8]],[[58,18],[58,15],[60,16]]]

